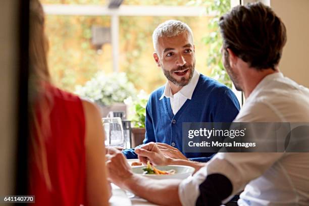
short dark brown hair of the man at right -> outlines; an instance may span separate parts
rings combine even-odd
[[[219,21],[223,48],[258,70],[279,64],[286,28],[270,7],[262,3],[237,6]]]

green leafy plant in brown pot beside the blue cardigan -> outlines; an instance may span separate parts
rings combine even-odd
[[[133,100],[131,96],[124,100],[130,111],[130,113],[128,114],[128,118],[132,122],[132,148],[142,144],[145,138],[145,118],[147,101],[148,95],[143,90],[139,92],[135,100]]]

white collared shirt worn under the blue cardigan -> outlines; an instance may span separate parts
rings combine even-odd
[[[160,97],[160,100],[164,97],[170,98],[171,102],[171,108],[173,111],[173,114],[176,115],[176,113],[179,111],[179,109],[183,106],[183,104],[186,102],[187,99],[192,98],[193,91],[195,89],[195,86],[199,79],[199,72],[194,70],[193,76],[191,81],[182,87],[177,93],[174,95],[172,94],[171,86],[169,84],[169,81],[166,82],[164,87],[164,92],[162,96]]]

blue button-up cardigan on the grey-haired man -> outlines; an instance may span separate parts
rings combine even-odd
[[[146,106],[146,134],[143,143],[162,142],[182,151],[183,122],[232,122],[240,109],[235,94],[227,86],[200,74],[192,98],[187,99],[176,115],[164,86],[153,91]],[[134,149],[123,150],[127,159],[136,159]],[[190,160],[207,162],[214,153],[186,152]]]

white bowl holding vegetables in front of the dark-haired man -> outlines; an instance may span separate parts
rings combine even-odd
[[[194,168],[189,166],[182,166],[182,165],[168,165],[168,166],[155,166],[159,170],[175,170],[175,174],[171,175],[156,175],[156,174],[143,174],[143,168],[146,166],[136,166],[132,168],[133,173],[143,175],[145,177],[149,177],[152,179],[185,179],[193,174]]]

